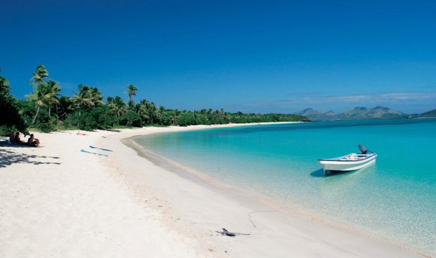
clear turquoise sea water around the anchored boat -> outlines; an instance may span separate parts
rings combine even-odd
[[[155,154],[281,205],[436,254],[436,120],[257,125],[136,138]],[[378,153],[323,176],[318,158]]]

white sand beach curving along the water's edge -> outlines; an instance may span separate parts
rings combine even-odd
[[[4,143],[0,257],[422,257],[160,167],[121,141],[213,127],[35,133],[41,148]],[[250,235],[220,236],[222,228]]]

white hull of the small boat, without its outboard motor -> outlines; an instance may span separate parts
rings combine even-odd
[[[377,155],[371,155],[361,160],[319,160],[324,172],[349,172],[362,169],[376,162]]]

